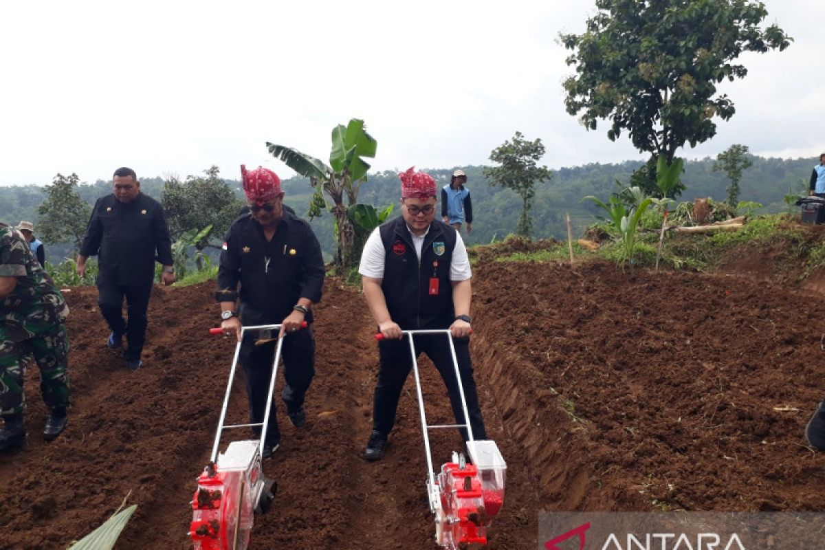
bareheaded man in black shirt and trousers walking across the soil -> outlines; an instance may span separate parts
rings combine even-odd
[[[137,370],[143,366],[140,354],[146,340],[155,257],[163,264],[164,284],[175,282],[175,270],[163,207],[140,192],[140,181],[131,168],[115,171],[114,192],[98,199],[92,209],[78,256],[78,275],[86,275],[86,259],[95,255],[97,304],[111,329],[106,346],[120,349],[125,335],[126,364]],[[128,322],[122,316],[124,298]]]

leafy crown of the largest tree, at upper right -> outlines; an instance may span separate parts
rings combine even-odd
[[[733,116],[716,85],[747,74],[733,63],[740,54],[793,40],[779,26],[761,28],[765,6],[749,0],[596,0],[596,8],[582,35],[559,35],[576,68],[563,83],[567,111],[587,129],[611,120],[610,140],[626,130],[635,148],[668,163],[686,142],[716,134],[714,116]]]

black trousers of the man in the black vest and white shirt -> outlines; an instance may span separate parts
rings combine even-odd
[[[423,351],[436,365],[441,379],[450,394],[450,405],[453,408],[456,424],[464,424],[464,411],[461,408],[461,395],[455,379],[455,367],[450,356],[450,344],[446,336],[421,335],[414,336],[416,354]],[[469,356],[469,338],[454,338],[455,358],[458,360],[461,384],[464,387],[464,399],[469,412],[469,425],[473,428],[473,438],[486,440],[484,421],[479,407],[479,393],[473,378],[473,363]],[[373,430],[389,435],[395,425],[395,412],[398,409],[398,398],[406,382],[410,370],[413,369],[413,358],[410,355],[408,336],[401,340],[380,341],[378,352],[381,366],[378,371],[378,383],[375,384],[375,394],[372,405]],[[468,440],[467,430],[460,428],[461,437]]]

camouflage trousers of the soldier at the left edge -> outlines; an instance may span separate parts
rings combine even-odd
[[[46,407],[68,407],[68,333],[59,323],[45,334],[12,341],[0,327],[0,416],[26,410],[23,379],[33,359],[40,368],[40,392]]]

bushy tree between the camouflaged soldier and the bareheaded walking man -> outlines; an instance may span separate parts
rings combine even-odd
[[[92,207],[80,198],[75,173],[58,174],[43,188],[45,200],[37,207],[37,234],[46,244],[71,242],[74,255],[80,250]]]

